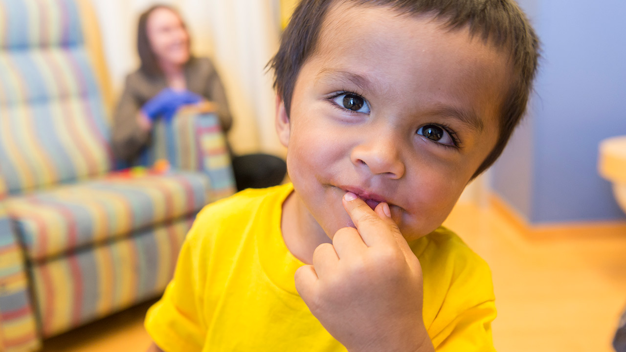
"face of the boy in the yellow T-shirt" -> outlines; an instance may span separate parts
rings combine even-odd
[[[480,36],[479,36],[480,37]],[[424,16],[336,4],[277,130],[300,207],[332,238],[342,196],[389,203],[411,241],[436,229],[495,146],[506,56]]]

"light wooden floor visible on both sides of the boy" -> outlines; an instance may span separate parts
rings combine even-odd
[[[493,271],[498,351],[608,352],[626,306],[626,234],[529,240],[491,209],[458,205],[446,221]],[[145,351],[143,304],[44,341],[48,352]]]

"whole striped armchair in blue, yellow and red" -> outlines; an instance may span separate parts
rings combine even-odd
[[[211,113],[156,125],[115,171],[111,94],[85,0],[0,0],[0,351],[158,296],[203,205],[234,192]]]

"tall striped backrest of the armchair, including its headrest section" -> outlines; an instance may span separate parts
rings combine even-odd
[[[85,40],[85,3],[0,0],[0,193],[111,168],[107,92]]]

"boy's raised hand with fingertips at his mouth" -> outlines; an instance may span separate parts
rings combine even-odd
[[[347,193],[344,208],[356,229],[339,229],[332,244],[295,272],[311,313],[351,352],[434,351],[422,318],[423,281],[389,205],[372,210]]]

